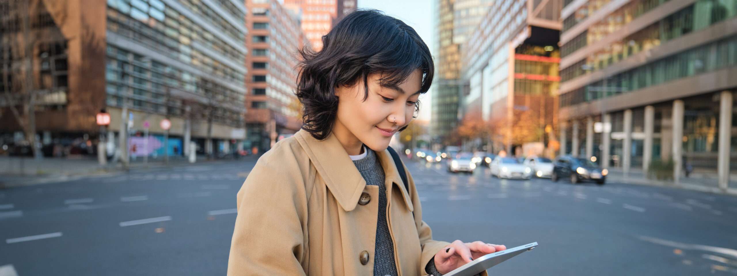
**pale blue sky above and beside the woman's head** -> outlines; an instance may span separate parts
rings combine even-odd
[[[371,8],[383,11],[386,15],[398,18],[405,24],[411,26],[417,34],[425,40],[430,52],[435,56],[435,23],[433,22],[435,5],[434,0],[358,0],[359,8]],[[418,120],[430,120],[430,107],[432,103],[430,93],[434,88],[419,97],[420,110]]]

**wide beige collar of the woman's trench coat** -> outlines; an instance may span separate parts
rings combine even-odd
[[[310,157],[315,169],[325,180],[327,188],[338,200],[340,207],[346,211],[355,209],[358,198],[363,193],[363,189],[366,188],[366,180],[363,180],[338,138],[331,134],[324,141],[320,141],[312,137],[310,132],[306,130],[299,130],[294,137],[302,146],[304,152],[307,153],[307,156]],[[405,199],[407,208],[413,211],[411,197],[405,189],[404,183],[402,183],[402,178],[399,177],[399,171],[397,171],[397,166],[394,165],[394,160],[389,152],[387,150],[377,152],[377,158],[379,158],[384,169],[385,183],[391,181],[391,183],[394,183],[392,185],[397,185],[399,190],[402,191],[402,197]]]

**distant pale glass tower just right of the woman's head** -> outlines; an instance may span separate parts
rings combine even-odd
[[[458,122],[458,99],[461,97],[461,46],[492,4],[490,0],[437,0],[435,44],[436,77],[433,83],[431,135],[447,138]]]

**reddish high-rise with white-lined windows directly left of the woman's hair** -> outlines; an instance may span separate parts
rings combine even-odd
[[[296,96],[298,49],[309,45],[299,21],[276,0],[246,0],[251,12],[246,19],[250,50],[245,83],[246,147],[261,151],[301,127]]]

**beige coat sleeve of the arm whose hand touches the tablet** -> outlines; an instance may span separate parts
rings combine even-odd
[[[410,188],[409,192],[412,197],[412,205],[414,206],[415,225],[417,226],[417,233],[419,235],[419,244],[422,247],[422,255],[420,255],[420,267],[418,271],[427,273],[427,271],[425,271],[427,263],[429,263],[430,260],[433,260],[435,253],[439,252],[444,247],[447,247],[450,242],[433,240],[433,230],[430,230],[430,226],[422,221],[422,206],[420,205],[419,194],[417,194],[417,188],[412,175],[406,167],[405,171],[407,172],[407,181],[409,182],[408,184]],[[481,275],[487,276],[486,272],[482,272]]]

